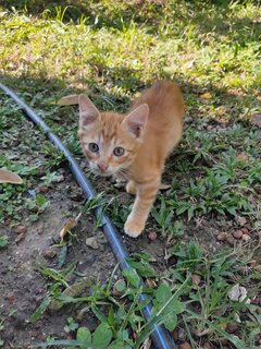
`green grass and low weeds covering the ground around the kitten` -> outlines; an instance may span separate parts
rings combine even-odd
[[[64,95],[87,92],[99,108],[125,111],[137,92],[158,79],[173,79],[183,86],[187,106],[184,139],[166,164],[164,179],[171,188],[159,194],[148,225],[166,242],[167,267],[154,270],[148,255],[130,261],[148,282],[154,282],[142,289],[153,303],[151,323],[146,325],[140,313],[141,289],[135,272],[125,275],[127,284],[121,296],[112,292],[112,275],[105,286],[89,286],[92,294],[79,298],[65,292],[73,268],[51,270],[48,266],[41,269],[49,280],[48,297],[35,320],[55,299],[61,304],[80,304],[83,313],[91,311],[100,323],[90,333],[72,315],[64,326],[75,339],[63,346],[84,348],[84,340],[97,345],[102,332],[107,341],[100,347],[138,348],[156,322],[174,333],[186,329],[185,340],[192,348],[206,342],[220,348],[224,342],[231,348],[254,348],[260,308],[246,300],[233,302],[227,294],[240,284],[253,299],[260,282],[260,269],[251,266],[251,261],[260,263],[258,249],[253,249],[261,219],[260,130],[251,123],[252,116],[261,113],[260,2],[67,0],[37,4],[12,1],[12,5],[2,1],[0,7],[1,81],[47,121],[77,159],[83,159],[83,154],[75,109],[55,105]],[[27,190],[39,182],[41,168],[45,176],[40,185],[54,186],[64,165],[63,155],[44,141],[39,131],[26,125],[21,129],[22,120],[21,110],[1,95],[0,142],[4,153],[0,167],[25,179],[21,186],[1,186],[4,204],[0,221],[8,217],[13,225],[24,212],[33,221],[40,219],[49,202],[38,188],[32,197]],[[20,157],[13,151],[15,137],[17,130],[25,129],[28,139]],[[32,137],[37,140],[35,145]],[[35,152],[41,154],[41,160]],[[34,165],[24,166],[26,154],[35,157]],[[109,197],[103,206],[122,228],[129,201],[110,201],[121,194],[108,184],[103,186]],[[94,200],[83,210],[90,213],[96,205]],[[221,231],[247,225],[252,240],[236,251],[215,255],[206,253],[195,241],[185,244],[187,232],[195,226],[197,230],[201,219],[214,220]],[[0,240],[2,248],[9,243],[4,236]],[[199,276],[198,285],[195,275]],[[179,311],[170,312],[170,305]],[[241,323],[236,323],[233,335],[227,328],[237,315]],[[57,342],[55,338],[49,338],[48,346],[51,342]]]

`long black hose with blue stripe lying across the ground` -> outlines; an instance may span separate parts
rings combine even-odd
[[[69,149],[63,145],[63,143],[59,140],[59,137],[53,134],[50,130],[50,128],[38,117],[22,99],[20,99],[10,88],[4,86],[0,83],[0,88],[5,92],[5,94],[11,97],[18,106],[21,106],[26,115],[36,123],[38,127],[40,127],[46,134],[46,136],[51,140],[57,147],[63,152],[65,158],[69,161],[71,171],[73,176],[75,177],[78,185],[83,189],[83,192],[85,194],[86,198],[91,198],[96,196],[96,192],[91,184],[86,179],[85,174],[80,170],[77,163],[72,157]],[[100,214],[100,210],[98,212]],[[116,261],[119,262],[122,269],[129,268],[129,264],[127,263],[126,258],[128,257],[128,253],[125,249],[125,246],[122,243],[122,239],[116,231],[116,229],[112,226],[110,219],[107,215],[102,215],[102,224],[103,224],[103,232],[107,237],[107,240],[112,249],[112,252],[114,253]],[[144,285],[142,279],[140,278],[140,285]],[[145,301],[147,299],[146,294],[140,294],[139,300]],[[144,308],[144,315],[147,321],[151,320],[151,304],[147,304]],[[164,326],[156,326],[154,325],[154,332],[151,334],[153,345],[157,349],[175,349],[175,344],[170,337],[169,333],[164,328]]]

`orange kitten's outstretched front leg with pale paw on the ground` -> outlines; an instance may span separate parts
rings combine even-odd
[[[133,209],[124,225],[124,231],[132,238],[137,238],[144,230],[151,206],[156,200],[161,179],[145,184],[137,184],[137,195]]]

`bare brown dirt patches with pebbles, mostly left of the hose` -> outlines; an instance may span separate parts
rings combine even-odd
[[[28,158],[29,160],[29,158]],[[84,201],[82,195],[74,196],[77,190],[75,181],[67,169],[63,170],[64,181],[47,193],[51,205],[36,222],[24,219],[20,222],[26,227],[24,239],[17,239],[15,227],[1,225],[1,233],[9,237],[8,248],[1,251],[0,264],[0,292],[1,317],[5,318],[2,339],[4,349],[28,348],[32,344],[44,341],[48,336],[64,338],[64,325],[72,312],[77,312],[73,306],[63,306],[60,311],[48,311],[41,320],[35,324],[28,323],[29,316],[41,303],[47,294],[47,280],[38,266],[44,263],[50,267],[57,267],[59,262],[59,249],[53,246],[58,242],[58,236],[66,221],[66,216],[75,217],[78,214],[79,203]],[[102,186],[102,185],[101,185]],[[69,190],[72,189],[72,190]],[[125,194],[122,194],[125,196]],[[76,201],[75,201],[76,200]],[[85,240],[97,233],[92,231],[92,219],[83,215],[75,229],[77,240],[69,248],[65,267],[76,263],[77,272],[90,278],[90,280],[105,282],[108,276],[116,264],[101,231],[98,232],[97,250],[86,245]],[[188,226],[185,240],[198,239],[213,252],[219,250],[221,242],[216,242],[219,229],[214,228],[214,221],[200,221],[198,227]],[[137,240],[123,237],[124,244],[129,253],[147,251],[157,261],[154,265],[163,270],[167,267],[164,261],[165,243],[161,239],[150,241],[147,233]],[[54,251],[54,253],[50,253]],[[76,282],[80,277],[72,276],[70,281]],[[95,328],[96,321],[88,315],[84,323],[90,329]]]

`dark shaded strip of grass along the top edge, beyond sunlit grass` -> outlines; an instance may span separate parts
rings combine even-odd
[[[260,5],[259,1],[252,3]],[[236,4],[247,7],[246,1],[238,1]],[[175,32],[178,26],[191,23],[201,34],[213,33],[221,40],[226,36],[243,46],[246,45],[246,36],[248,41],[256,41],[261,35],[259,21],[254,22],[247,15],[229,17],[233,8],[225,0],[181,1],[178,4],[171,0],[130,0],[114,3],[102,0],[14,0],[10,3],[3,0],[1,7],[7,10],[15,8],[32,15],[45,13],[64,22],[85,19],[97,29],[109,27],[123,31],[136,23],[142,27],[146,25],[149,33],[158,34],[160,26],[163,28],[171,25]]]

